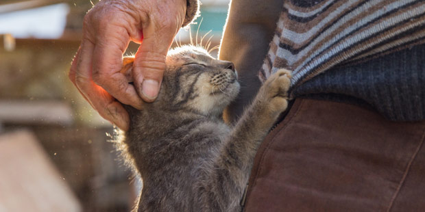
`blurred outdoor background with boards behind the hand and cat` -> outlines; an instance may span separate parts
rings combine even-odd
[[[0,212],[134,205],[138,183],[110,141],[112,125],[67,76],[84,14],[98,1],[0,1]],[[213,36],[211,47],[219,44],[228,3],[202,0],[193,39],[210,31],[205,40]],[[189,43],[189,30],[176,40]],[[126,54],[137,47],[131,43]]]

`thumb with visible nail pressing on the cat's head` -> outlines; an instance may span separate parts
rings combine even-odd
[[[143,29],[143,40],[134,58],[132,75],[138,95],[144,101],[152,102],[158,96],[167,67],[165,59],[176,31]]]

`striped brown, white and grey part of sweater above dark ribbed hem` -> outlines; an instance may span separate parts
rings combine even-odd
[[[293,86],[337,64],[425,42],[425,1],[285,1],[260,78],[293,70]]]

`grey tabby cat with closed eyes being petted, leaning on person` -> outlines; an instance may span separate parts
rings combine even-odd
[[[131,81],[134,58],[121,72]],[[143,179],[137,211],[241,211],[256,150],[279,114],[287,109],[291,72],[267,79],[229,126],[223,109],[239,92],[231,62],[200,47],[169,51],[158,98],[130,114],[123,145]]]

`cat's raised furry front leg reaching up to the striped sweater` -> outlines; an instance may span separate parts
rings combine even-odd
[[[213,184],[206,197],[211,208],[240,210],[256,150],[279,114],[287,109],[290,78],[291,72],[284,69],[271,75],[230,133],[208,176]]]

